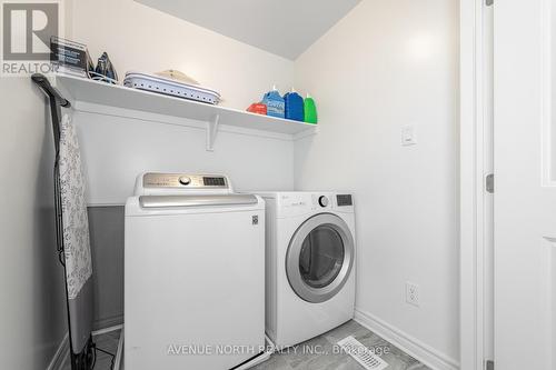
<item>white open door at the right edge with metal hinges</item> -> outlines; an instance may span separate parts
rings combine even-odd
[[[495,0],[495,368],[500,370],[556,369],[552,8],[556,1]]]

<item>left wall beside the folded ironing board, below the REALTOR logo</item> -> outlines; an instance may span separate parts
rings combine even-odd
[[[66,334],[46,107],[31,79],[0,79],[0,369],[44,370]]]

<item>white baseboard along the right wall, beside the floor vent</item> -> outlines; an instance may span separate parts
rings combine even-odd
[[[356,308],[355,321],[366,327],[379,337],[383,337],[406,353],[419,360],[434,370],[458,370],[459,363],[455,359],[438,352],[401,330],[394,328],[369,312]]]

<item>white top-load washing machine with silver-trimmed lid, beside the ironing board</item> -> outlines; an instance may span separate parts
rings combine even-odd
[[[143,173],[126,203],[125,366],[235,368],[265,347],[265,202],[224,176]]]

